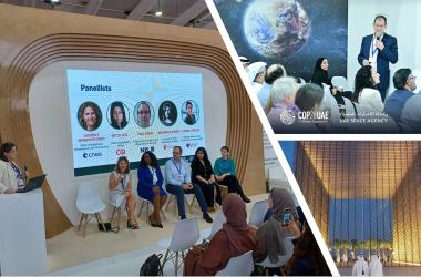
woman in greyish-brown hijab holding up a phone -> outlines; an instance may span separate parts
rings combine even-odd
[[[254,256],[255,261],[263,261],[269,256],[270,263],[275,264],[278,256],[286,254],[284,238],[294,236],[287,226],[283,226],[284,211],[289,209],[294,220],[298,220],[299,217],[292,196],[285,188],[274,188],[269,194],[268,204],[274,215],[256,232],[258,248]]]

